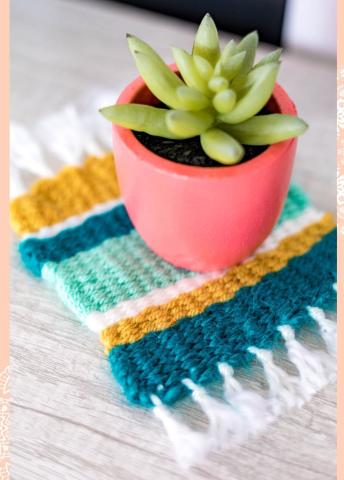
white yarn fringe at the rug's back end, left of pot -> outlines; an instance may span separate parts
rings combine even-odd
[[[98,110],[116,102],[117,91],[96,89],[30,127],[10,126],[10,195],[15,198],[42,177],[65,165],[79,165],[86,155],[112,150],[111,124]],[[29,172],[31,175],[25,175]]]

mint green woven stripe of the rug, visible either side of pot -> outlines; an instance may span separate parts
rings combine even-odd
[[[291,186],[277,225],[299,216],[308,203],[303,191]],[[159,258],[133,230],[59,263],[48,262],[42,275],[82,318],[93,311],[106,312],[121,301],[142,297],[196,273],[175,268]]]

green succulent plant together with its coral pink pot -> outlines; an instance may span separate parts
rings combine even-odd
[[[173,48],[176,65],[127,38],[141,77],[101,113],[113,123],[128,214],[147,245],[178,267],[235,265],[275,225],[296,137],[307,128],[276,83],[281,50],[254,64],[253,32],[220,51],[209,14],[191,54]]]

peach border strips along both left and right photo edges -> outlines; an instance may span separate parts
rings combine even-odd
[[[340,21],[340,19],[342,19]],[[337,451],[344,451],[344,398],[343,368],[343,325],[344,320],[344,0],[337,0],[337,59],[338,59],[338,135],[337,135],[337,167],[338,167],[338,444]],[[8,159],[9,152],[9,0],[0,2],[0,423],[1,415],[8,415],[9,395],[8,355],[9,355],[9,222],[8,222]],[[342,320],[342,321],[341,321]],[[0,429],[0,477],[8,480],[8,430]],[[344,480],[344,459],[338,455],[337,479]]]

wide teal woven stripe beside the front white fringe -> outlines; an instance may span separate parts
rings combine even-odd
[[[172,404],[191,393],[184,378],[208,385],[219,378],[219,362],[247,367],[254,358],[249,346],[271,350],[278,345],[279,325],[314,326],[307,307],[335,305],[336,236],[333,230],[305,255],[240,289],[231,300],[112,348],[111,368],[129,401],[150,407],[155,394]]]

